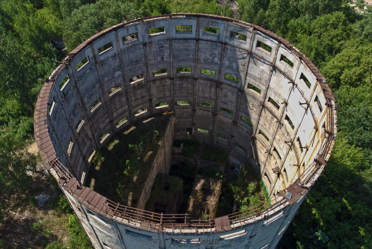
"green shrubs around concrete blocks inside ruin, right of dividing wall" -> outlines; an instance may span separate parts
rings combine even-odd
[[[185,157],[193,158],[194,156],[198,156],[203,160],[218,163],[226,163],[227,161],[227,152],[218,146],[205,143],[201,144],[198,140],[191,139],[174,139],[173,145],[181,146],[182,143],[183,149],[181,155]],[[183,179],[183,203],[181,204],[180,213],[187,210],[187,204],[196,174],[222,180],[218,202],[220,209],[216,215],[217,217],[235,212],[235,210],[232,210],[234,199],[238,201],[236,205],[240,211],[256,207],[262,203],[264,203],[262,209],[271,205],[263,181],[260,180],[248,162],[241,165],[238,176],[234,173],[217,172],[209,167],[198,168],[189,160],[184,160],[179,164],[173,165],[170,174]]]

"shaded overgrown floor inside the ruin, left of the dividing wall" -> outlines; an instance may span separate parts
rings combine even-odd
[[[136,207],[171,114],[156,114],[128,126],[97,151],[87,186],[122,205]]]

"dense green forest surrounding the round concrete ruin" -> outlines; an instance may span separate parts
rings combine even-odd
[[[279,248],[372,248],[372,15],[371,7],[360,13],[348,3],[237,0],[235,18],[291,41],[317,63],[337,102],[339,129],[331,158]],[[216,0],[0,1],[0,193],[27,189],[26,171],[35,169],[36,158],[25,146],[33,141],[37,94],[65,56],[55,40],[62,37],[71,51],[116,23],[174,12],[234,17]],[[81,227],[74,224],[76,235]],[[65,246],[52,242],[47,248]],[[1,237],[0,248],[7,248]]]

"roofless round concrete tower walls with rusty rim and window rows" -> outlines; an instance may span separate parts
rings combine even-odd
[[[278,35],[170,14],[112,26],[68,54],[42,86],[35,139],[94,248],[275,248],[330,156],[334,105],[318,69]],[[135,207],[84,186],[92,152],[164,110],[162,156]],[[169,173],[175,138],[224,146],[231,165],[249,161],[271,206],[196,221],[145,211],[155,175]]]

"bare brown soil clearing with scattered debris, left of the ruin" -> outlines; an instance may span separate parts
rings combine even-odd
[[[36,143],[29,145],[28,151],[38,154]],[[7,194],[0,190],[0,241],[3,240],[5,248],[43,248],[69,236],[66,229],[69,214],[50,208],[61,194],[57,182],[51,182],[41,161],[36,171],[25,192]],[[38,221],[35,229],[33,225]]]

